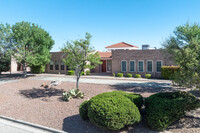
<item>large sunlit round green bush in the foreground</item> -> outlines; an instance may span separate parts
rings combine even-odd
[[[110,130],[119,130],[141,120],[137,106],[129,98],[112,92],[90,99],[88,117],[96,126]]]

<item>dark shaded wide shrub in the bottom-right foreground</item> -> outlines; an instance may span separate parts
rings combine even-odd
[[[145,121],[153,129],[162,131],[185,115],[185,111],[200,107],[200,100],[187,92],[157,93],[145,100]]]

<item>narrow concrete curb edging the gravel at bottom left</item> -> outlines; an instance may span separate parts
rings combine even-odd
[[[22,120],[16,120],[16,119],[13,119],[13,118],[10,118],[10,117],[6,117],[6,116],[0,116],[0,119],[6,120],[6,121],[9,121],[9,122],[14,122],[16,124],[21,124],[21,125],[24,125],[24,126],[28,126],[28,127],[31,127],[31,128],[35,128],[35,129],[41,130],[43,132],[48,132],[48,133],[67,133],[65,131],[61,131],[61,130],[57,130],[57,129],[41,126],[41,125],[38,125],[38,124],[25,122],[25,121],[22,121]]]

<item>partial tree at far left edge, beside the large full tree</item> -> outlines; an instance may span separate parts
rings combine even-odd
[[[0,24],[0,74],[10,69],[11,26]]]

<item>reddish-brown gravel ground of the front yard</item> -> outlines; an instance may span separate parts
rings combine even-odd
[[[64,82],[51,89],[40,88],[42,83],[50,81],[20,79],[17,82],[0,84],[0,115],[12,117],[64,130],[70,133],[100,133],[103,131],[79,116],[79,105],[99,93],[114,90],[141,93],[144,97],[156,92],[173,91],[171,88],[149,88],[124,85],[104,85],[81,83],[80,89],[85,93],[84,99],[61,100],[62,92],[75,87],[74,82]],[[152,132],[145,124],[126,127],[120,132]],[[170,126],[165,132],[200,132],[200,110],[190,112],[186,117]]]

